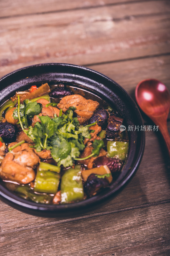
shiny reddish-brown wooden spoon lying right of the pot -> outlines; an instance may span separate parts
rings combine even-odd
[[[170,109],[170,93],[166,86],[156,79],[141,81],[135,91],[137,104],[159,125],[170,156],[170,136],[167,129],[167,117]]]

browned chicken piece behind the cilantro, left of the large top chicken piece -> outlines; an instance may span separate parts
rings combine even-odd
[[[39,99],[39,100],[37,100],[37,102],[42,104],[42,110],[41,110],[41,113],[39,114],[39,116],[49,116],[51,118],[53,118],[55,114],[57,116],[59,116],[60,110],[58,108],[55,108],[52,106],[46,107],[46,105],[49,103],[48,100]],[[41,123],[41,121],[37,115],[35,115],[33,117],[33,123],[36,123],[36,122]],[[34,126],[34,124],[33,124],[33,126]]]

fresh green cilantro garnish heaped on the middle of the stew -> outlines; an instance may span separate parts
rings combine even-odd
[[[85,138],[91,139],[89,126],[95,125],[96,122],[86,126],[80,125],[78,118],[73,117],[75,107],[70,107],[65,114],[60,109],[59,116],[55,115],[51,119],[49,116],[38,116],[41,112],[41,106],[37,105],[39,103],[30,102],[29,100],[24,103],[24,105],[20,104],[18,96],[17,114],[15,112],[14,116],[18,119],[22,130],[33,140],[37,152],[43,149],[50,150],[51,156],[57,162],[57,165],[63,165],[64,167],[72,166],[75,160],[83,160],[99,155],[104,142],[95,140],[92,144],[94,148],[92,154],[86,158],[78,158],[85,148],[83,143]],[[34,114],[39,117],[41,123],[37,122],[34,127],[29,126],[28,130],[25,130],[25,120]]]

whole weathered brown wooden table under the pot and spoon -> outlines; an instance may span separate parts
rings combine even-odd
[[[65,62],[111,77],[133,98],[145,78],[170,89],[169,19],[168,0],[1,0],[0,76]],[[133,179],[84,214],[36,217],[0,201],[0,255],[170,255],[167,161],[160,133],[147,131]]]

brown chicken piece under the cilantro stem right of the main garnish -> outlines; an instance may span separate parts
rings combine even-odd
[[[93,147],[86,147],[84,149],[83,153],[81,154],[80,158],[84,158],[84,157],[89,156],[90,154],[92,154],[92,149],[93,149]],[[99,156],[106,156],[106,155],[107,155],[107,152],[103,148],[101,148]],[[97,157],[99,157],[99,156],[97,156]],[[79,164],[84,164],[85,166],[87,166],[88,169],[92,169],[93,168],[93,162],[97,157],[91,156],[90,158],[88,158],[86,160],[79,161]]]

